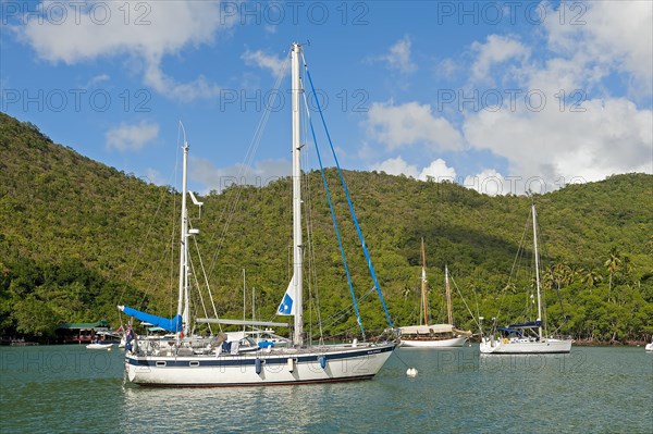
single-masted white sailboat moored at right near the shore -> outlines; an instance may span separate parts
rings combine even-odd
[[[490,336],[481,337],[480,351],[488,355],[527,355],[527,354],[564,354],[571,351],[571,338],[546,336],[546,322],[542,318],[543,299],[540,290],[540,259],[538,252],[538,214],[535,204],[531,206],[533,221],[533,249],[535,259],[535,286],[538,298],[538,318],[535,321],[496,327]]]

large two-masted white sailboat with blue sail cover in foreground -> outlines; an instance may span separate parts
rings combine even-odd
[[[206,338],[189,335],[187,244],[188,237],[197,235],[197,231],[188,230],[185,199],[187,195],[188,145],[184,140],[177,314],[172,319],[167,319],[150,315],[128,307],[119,307],[126,314],[175,333],[176,337],[161,342],[138,338],[130,342],[125,351],[125,371],[126,379],[130,382],[141,386],[256,386],[369,380],[379,372],[396,348],[398,342],[392,337],[375,343],[354,339],[352,343],[338,345],[308,345],[304,340],[300,196],[300,150],[303,144],[299,137],[300,97],[303,94],[300,59],[304,59],[301,46],[293,44],[291,65],[294,274],[278,309],[279,314],[294,315],[292,344],[279,347],[274,345],[259,346],[257,343],[248,340],[248,337],[244,336],[242,332],[237,338],[230,338],[227,334],[223,333]],[[306,70],[306,74],[310,79],[308,70]],[[367,253],[362,238],[361,245]],[[368,260],[368,264],[371,268],[371,261]],[[382,299],[375,276],[374,282]],[[392,321],[386,309],[385,313],[392,330]],[[241,325],[247,323],[247,325],[263,327],[287,327],[291,325],[282,322],[248,322],[245,320],[206,318],[196,319],[195,321]],[[248,343],[254,345],[247,345]]]

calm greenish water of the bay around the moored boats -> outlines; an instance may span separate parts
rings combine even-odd
[[[0,348],[2,433],[652,433],[653,352],[401,349],[369,382],[138,388],[123,352]],[[406,376],[407,365],[419,374]]]

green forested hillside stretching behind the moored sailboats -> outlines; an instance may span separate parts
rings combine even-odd
[[[509,275],[531,199],[383,173],[346,171],[345,177],[395,325],[419,321],[422,237],[433,321],[443,320],[445,264],[476,315],[501,322],[527,318],[531,275]],[[321,176],[313,172],[307,178],[305,233],[312,234],[312,244],[306,262],[317,264],[307,276],[317,278],[309,280],[305,299],[315,306],[319,298],[325,333],[342,336],[356,331],[356,321],[340,314],[350,299]],[[364,324],[375,333],[385,319],[370,293],[356,231],[345,220],[336,174],[328,171],[328,178]],[[242,318],[244,270],[257,317],[272,318],[289,280],[289,190],[288,179],[232,187],[200,199],[201,219],[190,211],[220,315]],[[653,176],[615,175],[534,200],[550,322],[576,338],[650,338]],[[95,162],[0,113],[0,336],[45,338],[63,322],[107,319],[118,325],[124,321],[119,302],[172,315],[178,204],[175,189]],[[193,258],[199,276],[200,258]],[[457,290],[454,313],[460,326],[476,330]],[[313,332],[317,318],[306,312]]]

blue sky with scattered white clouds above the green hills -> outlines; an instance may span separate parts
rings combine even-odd
[[[0,5],[0,110],[157,184],[178,186],[178,121],[194,190],[289,174],[293,41],[345,169],[491,195],[653,172],[649,1]]]

